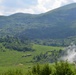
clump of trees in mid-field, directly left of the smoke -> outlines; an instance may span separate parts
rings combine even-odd
[[[46,53],[40,53],[39,55],[36,55],[33,57],[34,62],[45,62],[45,63],[53,63],[56,61],[59,61],[62,56],[65,55],[65,50],[51,50],[47,51]]]

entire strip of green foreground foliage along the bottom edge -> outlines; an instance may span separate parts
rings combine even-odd
[[[37,64],[25,73],[25,69],[11,69],[0,73],[0,75],[76,75],[74,64],[66,62],[56,62],[55,64]]]

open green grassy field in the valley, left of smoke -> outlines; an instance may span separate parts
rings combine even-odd
[[[4,49],[4,51],[2,49]],[[0,48],[0,73],[16,68],[21,68],[25,72],[33,66],[34,63],[32,60],[35,55],[51,50],[63,49],[63,47],[33,45],[33,49],[34,51],[18,52]]]

